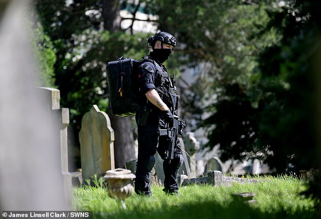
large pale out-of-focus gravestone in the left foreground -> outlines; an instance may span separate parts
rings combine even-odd
[[[0,1],[0,208],[66,210],[57,130],[36,89],[30,1]]]

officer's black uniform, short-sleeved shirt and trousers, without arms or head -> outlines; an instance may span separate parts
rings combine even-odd
[[[162,157],[164,150],[169,147],[169,141],[167,136],[158,136],[158,129],[165,128],[163,112],[147,101],[145,93],[156,88],[166,92],[170,85],[170,77],[166,67],[163,64],[160,65],[153,57],[153,52],[150,52],[150,55],[144,59],[138,67],[139,105],[141,111],[136,114],[138,126],[138,161],[135,192],[137,194],[150,196],[149,176],[155,164],[154,155],[156,151],[158,151],[158,154]],[[164,93],[158,94],[169,106],[169,103],[164,99]],[[176,142],[175,146],[174,159],[171,162],[168,160],[164,160],[163,162],[165,174],[164,191],[167,193],[178,192],[178,170],[183,163],[181,147],[178,142]]]

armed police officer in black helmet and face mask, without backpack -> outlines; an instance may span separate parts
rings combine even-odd
[[[162,31],[150,36],[147,43],[152,47],[152,51],[139,62],[138,66],[140,111],[136,113],[138,160],[135,192],[151,196],[149,177],[155,164],[154,155],[158,151],[164,160],[163,191],[167,194],[178,194],[177,176],[183,163],[181,147],[177,138],[171,139],[170,134],[159,135],[159,130],[176,130],[173,126],[177,124],[175,107],[178,102],[173,103],[175,99],[169,95],[171,91],[171,95],[174,95],[174,77],[170,78],[164,65],[176,46],[176,39],[172,34]],[[174,147],[169,151],[171,142]],[[172,153],[170,157],[168,157],[169,152]]]

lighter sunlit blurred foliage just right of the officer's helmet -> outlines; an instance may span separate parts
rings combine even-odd
[[[266,4],[270,1],[266,1]],[[256,40],[253,36],[267,22],[265,4],[243,1],[155,1],[152,7],[159,15],[159,28],[171,31],[179,39],[181,64],[195,67],[197,78],[182,90],[182,105],[188,115],[199,115],[213,102],[213,96],[224,96],[224,84],[237,83],[246,89],[257,66],[256,55],[276,41],[273,31]],[[168,8],[173,10],[168,10]],[[185,81],[184,78],[180,78]],[[198,116],[199,118],[199,116]],[[201,126],[204,126],[202,124]]]

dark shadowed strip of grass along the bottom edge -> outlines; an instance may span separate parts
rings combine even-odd
[[[162,209],[157,212],[152,210],[137,210],[131,208],[119,212],[94,212],[93,218],[131,218],[131,219],[188,219],[188,218],[237,218],[237,219],[273,219],[273,218],[321,218],[320,212],[313,209],[298,209],[296,211],[287,211],[282,208],[278,210],[261,210],[255,205],[244,204],[236,201],[222,205],[221,203],[213,201],[190,203],[183,205],[167,205],[164,204]]]

